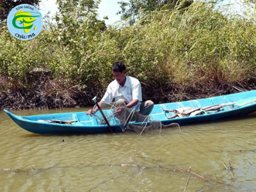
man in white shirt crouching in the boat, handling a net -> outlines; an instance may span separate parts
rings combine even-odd
[[[154,108],[154,102],[151,100],[141,102],[142,95],[140,81],[134,77],[126,76],[126,68],[122,61],[113,63],[111,69],[115,80],[108,85],[108,89],[100,100],[99,105],[101,102],[110,103],[114,99],[116,106],[120,103],[124,103],[124,107],[126,108],[134,108],[136,111],[140,111],[142,115],[149,115]],[[98,111],[97,108],[94,109],[94,111],[93,109],[90,109],[86,114],[91,115],[96,111]],[[117,108],[115,113],[120,111],[122,111],[122,107]]]

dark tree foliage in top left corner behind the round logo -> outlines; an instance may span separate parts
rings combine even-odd
[[[4,20],[7,19],[10,11],[19,4],[31,4],[36,8],[39,8],[40,0],[3,0],[0,1],[0,26],[2,26]]]

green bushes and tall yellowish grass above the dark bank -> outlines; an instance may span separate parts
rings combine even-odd
[[[0,29],[0,76],[8,77],[10,88],[15,82],[29,88],[31,71],[40,68],[61,83],[100,90],[112,80],[116,60],[124,60],[128,75],[153,88],[246,84],[256,76],[254,13],[236,15],[228,6],[216,8],[218,1],[195,1],[172,11],[141,12],[133,25],[126,19],[106,28],[94,1],[58,3],[57,24],[33,40],[20,41],[6,26]]]

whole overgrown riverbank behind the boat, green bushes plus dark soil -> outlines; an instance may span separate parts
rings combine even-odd
[[[81,20],[84,6],[70,7],[58,16],[70,19],[49,24],[33,40],[0,28],[1,109],[92,106],[113,79],[115,61],[140,80],[143,100],[155,103],[255,89],[255,12],[237,15],[196,1],[102,30],[96,15]]]

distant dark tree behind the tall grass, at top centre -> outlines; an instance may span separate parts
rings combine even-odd
[[[121,15],[122,20],[131,17],[129,24],[134,24],[136,19],[140,17],[142,10],[144,13],[147,11],[161,10],[162,8],[173,10],[180,5],[189,6],[192,3],[193,0],[129,0],[129,3],[120,1],[118,4],[120,4],[121,10],[116,14]]]

